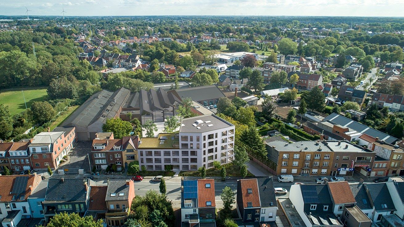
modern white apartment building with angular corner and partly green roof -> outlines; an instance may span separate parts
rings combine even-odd
[[[181,120],[179,133],[141,138],[139,165],[147,170],[197,170],[234,158],[234,125],[214,114]]]

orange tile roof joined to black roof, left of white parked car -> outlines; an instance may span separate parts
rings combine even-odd
[[[241,179],[240,185],[241,185],[240,193],[243,200],[244,208],[248,207],[249,202],[252,204],[252,207],[260,207],[261,202],[259,199],[259,189],[257,179]]]

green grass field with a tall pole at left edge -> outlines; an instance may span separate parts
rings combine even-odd
[[[22,90],[24,90],[27,108],[31,107],[34,101],[43,101],[48,97],[46,87],[34,88],[12,88],[0,90],[0,104],[8,105],[10,113],[20,113],[25,109]]]

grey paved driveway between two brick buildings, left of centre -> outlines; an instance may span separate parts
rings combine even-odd
[[[59,166],[58,169],[64,169],[65,173],[78,173],[78,169],[84,169],[86,173],[90,172],[88,155],[91,153],[91,141],[79,141],[74,146],[68,156],[68,161]],[[67,171],[66,171],[67,170]]]

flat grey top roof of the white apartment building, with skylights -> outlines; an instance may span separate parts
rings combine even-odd
[[[201,120],[202,123],[197,123],[197,120]],[[209,132],[221,128],[234,126],[234,124],[231,124],[230,122],[227,122],[214,114],[185,118],[182,120],[181,123],[182,124],[180,126],[179,132]],[[196,124],[196,126],[194,126],[193,124]]]

